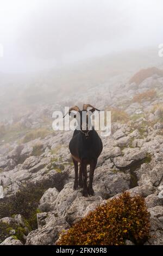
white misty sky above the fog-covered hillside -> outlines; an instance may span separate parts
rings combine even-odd
[[[162,11],[162,0],[0,0],[0,71],[37,71],[158,47]]]

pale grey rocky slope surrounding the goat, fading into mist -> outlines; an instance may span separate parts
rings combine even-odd
[[[72,131],[49,133],[26,143],[20,137],[14,142],[1,142],[1,198],[10,197],[24,183],[53,181],[40,198],[36,230],[27,230],[21,215],[0,220],[26,228],[26,245],[54,245],[63,229],[126,190],[145,197],[151,213],[152,236],[146,245],[163,244],[163,78],[154,74],[139,85],[128,80],[112,78],[86,93],[75,92],[71,99],[67,96],[53,106],[36,109],[18,121],[28,129],[36,129],[44,125],[42,113],[49,118],[55,109],[81,102],[114,111],[111,135],[102,137],[103,152],[95,170],[93,197],[85,198],[80,189],[73,190],[74,170],[68,150]],[[2,245],[22,245],[14,234],[13,230]]]

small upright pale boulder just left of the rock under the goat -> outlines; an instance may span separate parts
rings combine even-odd
[[[39,209],[45,212],[51,210],[55,202],[55,199],[57,199],[58,197],[58,194],[59,192],[57,188],[49,188],[40,199]]]

